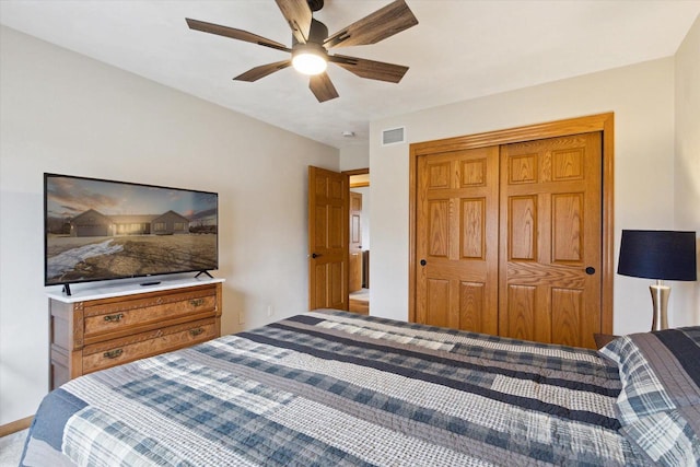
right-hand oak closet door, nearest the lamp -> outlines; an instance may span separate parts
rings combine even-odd
[[[500,335],[595,348],[600,144],[593,132],[501,147]]]

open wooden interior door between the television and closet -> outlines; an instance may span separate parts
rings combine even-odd
[[[308,167],[308,308],[348,310],[348,175]]]

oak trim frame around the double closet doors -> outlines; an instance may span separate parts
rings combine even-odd
[[[418,157],[428,154],[458,151],[465,149],[501,145],[514,142],[534,141],[546,138],[563,137],[593,131],[602,132],[602,291],[600,291],[600,332],[612,334],[612,279],[615,276],[615,185],[614,185],[614,140],[612,113],[590,115],[545,124],[528,125],[504,130],[467,135],[434,141],[410,144],[409,152],[409,252],[408,252],[408,319],[416,322],[416,280],[419,268],[416,256],[416,221],[418,196]]]

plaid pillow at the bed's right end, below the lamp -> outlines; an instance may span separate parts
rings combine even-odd
[[[700,326],[625,336],[600,352],[622,383],[620,432],[661,465],[700,464]]]

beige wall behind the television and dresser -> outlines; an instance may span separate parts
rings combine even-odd
[[[223,331],[306,310],[306,166],[339,170],[338,150],[0,34],[0,425],[48,388],[44,172],[218,191]]]

